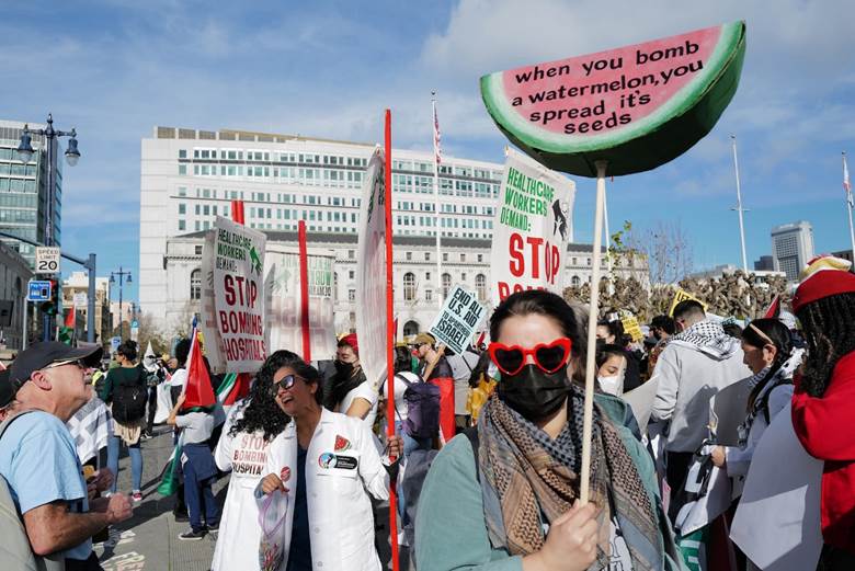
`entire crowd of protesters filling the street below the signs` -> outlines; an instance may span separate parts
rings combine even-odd
[[[855,275],[814,261],[790,306],[798,322],[778,315],[734,329],[685,300],[642,339],[617,315],[598,321],[584,505],[588,316],[551,293],[508,297],[489,344],[461,354],[426,332],[399,343],[392,436],[389,380],[366,377],[352,333],[329,362],[272,351],[225,422],[215,408],[184,407],[189,340],[153,358],[125,342],[106,370],[101,349],[36,343],[0,372],[0,484],[10,492],[3,500],[0,486],[0,507],[11,501],[23,530],[3,550],[47,569],[100,569],[92,537],[142,500],[142,449],[166,387],[159,422],[182,446],[174,516],[189,528],[179,537],[215,535],[215,571],[379,570],[377,507],[392,483],[390,540],[413,569],[765,569],[787,525],[818,527],[806,569],[855,569]],[[649,424],[632,408],[646,389]],[[822,462],[816,523],[805,506],[741,501],[768,473],[757,462],[780,434]],[[123,446],[128,494],[115,477]],[[219,505],[213,486],[226,473]],[[717,507],[711,490],[725,490]],[[744,539],[745,525],[763,529]]]

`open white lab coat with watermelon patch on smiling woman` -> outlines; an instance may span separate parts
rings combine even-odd
[[[284,482],[288,489],[288,509],[283,526],[285,558],[280,571],[287,567],[290,547],[297,496],[297,429],[290,422],[267,449],[265,473],[278,476],[286,467],[290,472]],[[355,460],[356,468],[337,468],[337,455],[347,457],[349,464]],[[389,498],[389,476],[368,426],[360,419],[323,409],[306,454],[306,503],[315,569],[380,571],[368,494],[378,500]]]

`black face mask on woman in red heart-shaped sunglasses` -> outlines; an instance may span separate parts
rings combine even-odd
[[[526,365],[516,375],[502,374],[497,387],[499,398],[522,414],[537,422],[552,415],[570,393],[571,381],[567,368],[544,373],[536,365]]]

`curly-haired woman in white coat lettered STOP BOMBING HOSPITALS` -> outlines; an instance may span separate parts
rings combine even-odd
[[[298,359],[290,351],[277,351],[267,357],[249,397],[232,407],[226,419],[214,459],[220,470],[231,471],[231,479],[210,566],[213,571],[259,569],[258,549],[236,546],[259,545],[261,530],[254,491],[267,473],[267,448],[289,420],[276,404],[273,375]]]

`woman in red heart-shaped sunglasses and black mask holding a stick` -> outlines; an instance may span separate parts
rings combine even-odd
[[[558,295],[509,296],[490,321],[501,372],[478,425],[440,453],[417,514],[417,562],[456,569],[682,570],[653,462],[595,397],[591,503],[580,505],[584,391],[575,316]],[[449,517],[448,514],[454,514]]]

